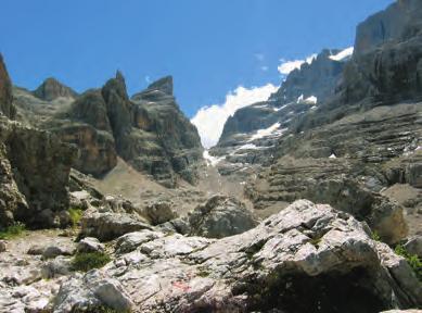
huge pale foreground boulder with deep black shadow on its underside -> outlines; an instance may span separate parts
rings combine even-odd
[[[219,240],[139,233],[136,250],[64,283],[53,309],[108,306],[113,297],[135,312],[370,313],[421,305],[422,287],[407,262],[370,236],[349,214],[305,200]],[[97,277],[102,281],[93,284]],[[94,292],[111,281],[113,297]]]

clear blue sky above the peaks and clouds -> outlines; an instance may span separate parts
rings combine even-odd
[[[82,91],[119,68],[130,93],[171,74],[188,116],[239,86],[281,82],[280,59],[354,42],[392,0],[2,0],[0,51],[15,85]]]

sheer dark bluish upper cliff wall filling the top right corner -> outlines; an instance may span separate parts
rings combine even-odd
[[[340,88],[341,102],[370,98],[367,105],[374,105],[421,99],[421,2],[404,0],[358,26],[355,57]]]

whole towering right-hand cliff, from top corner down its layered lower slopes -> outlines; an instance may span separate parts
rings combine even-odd
[[[406,236],[399,226],[404,223],[397,221],[402,220],[398,217],[401,209],[381,193],[394,184],[415,188],[419,184],[412,177],[420,175],[422,166],[418,72],[422,41],[419,32],[404,29],[419,29],[420,7],[420,1],[399,1],[358,27],[357,54],[345,65],[336,95],[295,117],[272,150],[278,161],[266,173],[260,171],[260,178],[246,188],[256,208],[270,210],[274,203],[305,197],[342,209],[345,199],[359,199],[365,203],[345,206],[361,208],[363,215],[393,214],[391,226],[382,227],[398,231],[392,237],[373,224],[383,220],[381,215],[372,218],[354,213],[385,236],[384,240]],[[385,23],[388,26],[382,26]],[[380,25],[385,28],[383,38],[379,37]],[[324,190],[337,191],[330,196]],[[349,196],[355,192],[360,196]]]

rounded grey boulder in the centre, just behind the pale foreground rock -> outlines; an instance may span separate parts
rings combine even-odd
[[[222,238],[254,228],[258,222],[246,205],[233,197],[214,196],[188,216],[191,235]]]

